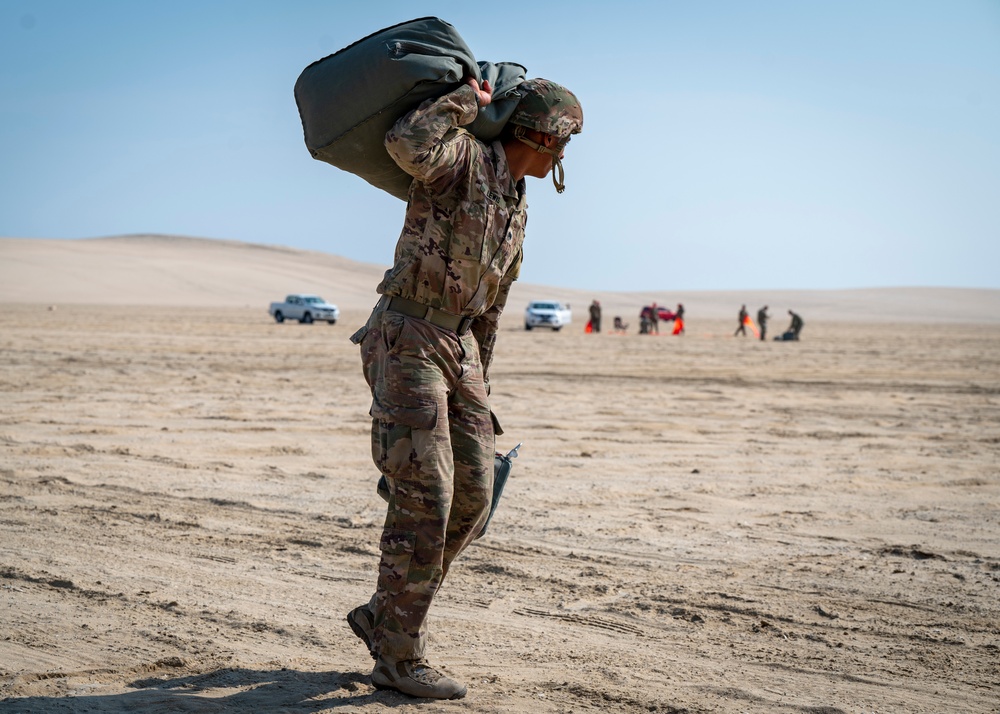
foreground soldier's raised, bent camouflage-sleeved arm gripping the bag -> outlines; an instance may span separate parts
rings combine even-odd
[[[479,113],[477,89],[463,84],[449,94],[428,99],[401,117],[385,135],[385,148],[403,171],[425,183],[467,167],[476,141],[455,131]]]

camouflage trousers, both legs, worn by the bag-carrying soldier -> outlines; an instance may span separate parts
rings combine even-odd
[[[479,346],[384,311],[369,320],[361,355],[372,458],[389,484],[374,649],[417,659],[434,593],[489,514],[495,442]]]

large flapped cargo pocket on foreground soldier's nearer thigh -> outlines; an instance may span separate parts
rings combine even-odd
[[[405,478],[419,460],[413,430],[429,431],[437,425],[437,404],[406,394],[375,395],[372,417],[372,460],[390,478]]]

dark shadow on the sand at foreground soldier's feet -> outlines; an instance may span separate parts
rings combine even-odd
[[[0,700],[0,712],[322,712],[342,707],[392,708],[416,701],[374,689],[359,672],[220,669],[186,677],[129,682],[134,691],[107,695]]]

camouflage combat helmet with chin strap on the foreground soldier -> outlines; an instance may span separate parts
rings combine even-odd
[[[566,189],[563,183],[562,160],[559,155],[573,134],[583,130],[583,107],[576,95],[560,84],[547,79],[528,79],[517,88],[521,100],[509,121],[514,124],[514,137],[535,151],[552,157],[552,183],[556,191]],[[525,136],[525,129],[534,129],[559,140],[557,150],[542,146]]]

